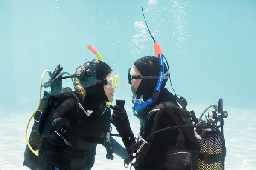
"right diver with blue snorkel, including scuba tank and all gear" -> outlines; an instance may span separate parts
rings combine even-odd
[[[224,170],[223,118],[227,112],[222,110],[222,99],[218,107],[210,105],[216,111],[207,114],[207,121],[201,118],[209,107],[197,119],[194,111],[186,110],[185,98],[178,98],[165,88],[170,78],[168,62],[166,67],[161,47],[155,40],[154,49],[155,56],[137,59],[128,69],[128,84],[134,94],[133,111],[140,119],[140,140],[136,142],[125,108],[114,105],[110,118],[132,166],[136,170]],[[213,119],[221,119],[221,125],[215,125],[218,121]]]

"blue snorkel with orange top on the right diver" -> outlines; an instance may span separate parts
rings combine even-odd
[[[154,42],[156,43],[156,42]],[[157,43],[156,43],[157,44]],[[157,44],[158,45],[158,44]],[[158,45],[159,46],[159,45]],[[161,47],[159,46],[158,48],[161,49]],[[162,50],[155,50],[156,53],[160,52],[162,53]],[[137,99],[137,96],[136,94],[134,94],[134,99],[135,99],[135,102],[134,102],[134,111],[140,111],[140,110],[144,110],[145,108],[147,108],[149,105],[151,105],[152,103],[154,103],[158,97],[159,97],[159,93],[160,93],[160,89],[161,89],[161,85],[162,85],[162,82],[163,82],[163,77],[164,77],[164,62],[163,62],[163,54],[157,54],[157,58],[159,60],[159,77],[158,77],[158,80],[157,80],[157,85],[156,85],[156,88],[154,89],[154,93],[153,95],[145,102],[143,103],[142,105],[140,105],[140,102],[143,98],[143,95],[140,96],[140,99]]]

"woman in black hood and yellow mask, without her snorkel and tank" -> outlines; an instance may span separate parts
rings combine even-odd
[[[39,122],[43,139],[38,159],[43,170],[89,170],[97,144],[108,143],[102,137],[105,125],[110,126],[105,102],[113,101],[119,75],[105,62],[90,60],[69,75],[75,77],[75,91],[61,93],[62,69],[58,65],[52,74],[51,94],[44,93],[49,99]]]

